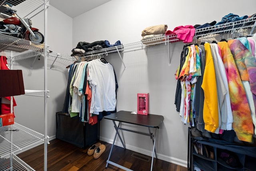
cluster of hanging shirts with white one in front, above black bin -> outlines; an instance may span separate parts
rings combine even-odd
[[[70,65],[62,109],[70,117],[79,117],[80,121],[91,125],[98,122],[99,114],[101,119],[103,115],[116,111],[116,75],[113,66],[102,61],[97,59]]]

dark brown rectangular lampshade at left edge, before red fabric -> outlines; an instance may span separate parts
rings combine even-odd
[[[22,70],[0,70],[0,97],[25,94]]]

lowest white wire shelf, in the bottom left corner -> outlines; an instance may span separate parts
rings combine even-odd
[[[1,171],[35,171],[26,164],[22,159],[14,155],[13,153],[9,158],[0,158],[0,170]]]

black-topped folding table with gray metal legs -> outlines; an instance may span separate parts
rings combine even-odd
[[[110,119],[113,121],[114,123],[114,127],[116,129],[116,135],[118,135],[119,139],[122,142],[122,145],[124,146],[124,149],[126,149],[125,144],[118,132],[119,129],[124,130],[124,131],[130,131],[130,132],[134,132],[134,133],[139,133],[142,135],[147,135],[150,136],[150,138],[152,139],[153,142],[153,149],[152,149],[152,161],[151,161],[151,171],[152,171],[152,167],[153,167],[153,160],[154,160],[154,153],[156,154],[156,149],[155,149],[155,145],[156,145],[156,129],[159,128],[159,125],[163,122],[164,117],[162,115],[152,115],[152,114],[148,114],[148,115],[139,115],[139,114],[131,114],[130,111],[118,111],[116,113],[112,113],[110,115],[104,116],[105,119]],[[116,122],[118,121],[118,126],[116,125]],[[148,131],[149,133],[144,133],[144,132],[139,132],[139,131],[133,131],[131,129],[125,129],[125,128],[121,128],[120,127],[120,123],[130,123],[130,124],[134,124],[134,125],[140,125],[140,126],[144,126],[144,127],[148,127]],[[150,128],[154,128],[155,129],[155,134],[153,135],[153,133],[151,133]],[[114,163],[112,161],[110,161],[110,157],[111,157],[111,153],[112,153],[112,149],[114,146],[114,143],[116,141],[116,135],[114,137],[114,141],[113,144],[111,146],[110,149],[110,153],[108,156],[108,160],[107,160],[107,164],[106,164],[106,168],[108,167],[108,164],[114,165],[116,167],[119,167],[121,169],[124,169],[126,171],[132,171],[131,169],[128,169],[122,165],[119,165],[117,163]],[[156,155],[157,158],[157,155]]]

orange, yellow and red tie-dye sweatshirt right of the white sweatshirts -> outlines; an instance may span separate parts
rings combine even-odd
[[[228,88],[234,120],[232,127],[239,140],[252,142],[252,117],[240,74],[228,43],[218,42],[218,45],[220,46],[224,67],[228,73]]]

